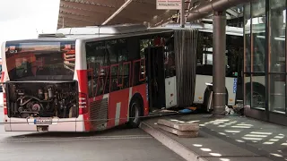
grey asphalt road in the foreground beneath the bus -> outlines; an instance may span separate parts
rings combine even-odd
[[[3,108],[0,107],[0,122]],[[0,161],[179,161],[169,148],[140,129],[86,134],[5,132],[0,123]]]

